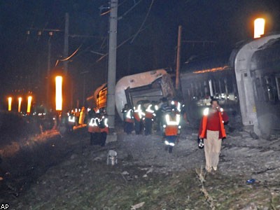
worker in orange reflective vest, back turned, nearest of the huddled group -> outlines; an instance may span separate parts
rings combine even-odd
[[[180,120],[181,116],[176,111],[175,106],[172,106],[171,113],[167,113],[165,115],[165,125],[163,125],[165,132],[165,150],[169,153],[172,153],[173,147],[175,146],[175,142],[180,134]]]

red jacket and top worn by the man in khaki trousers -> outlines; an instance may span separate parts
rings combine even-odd
[[[208,109],[208,110],[207,110]],[[223,122],[228,122],[228,114],[223,111],[216,111],[209,113],[209,108],[204,110],[204,116],[200,123],[199,137],[200,139],[207,139],[207,130],[219,131],[219,139],[226,137],[225,127]]]

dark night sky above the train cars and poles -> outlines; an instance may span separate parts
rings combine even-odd
[[[66,12],[69,13],[69,34],[83,35],[69,37],[69,54],[80,47],[69,63],[75,100],[83,97],[83,81],[87,96],[105,83],[107,57],[97,62],[101,55],[91,51],[107,52],[109,15],[100,15],[99,7],[108,6],[108,2],[1,1],[1,99],[28,90],[45,92],[49,36],[46,30],[41,36],[37,33],[39,29],[62,30],[54,32],[50,39],[53,68],[63,55]],[[130,10],[134,2],[139,3]],[[179,25],[183,27],[183,41],[211,41],[204,44],[184,42],[181,53],[181,62],[184,62],[194,55],[223,53],[238,41],[251,38],[253,19],[258,15],[267,18],[267,32],[280,31],[279,0],[119,0],[118,44],[130,37],[134,39],[118,48],[117,79],[131,73],[174,67]],[[137,34],[143,23],[144,27]],[[58,67],[62,67],[62,62]],[[83,78],[81,72],[84,71],[88,73]],[[3,100],[0,109],[2,107]]]

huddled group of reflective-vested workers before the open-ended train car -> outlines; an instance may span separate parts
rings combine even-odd
[[[155,128],[165,136],[166,149],[169,153],[172,153],[175,141],[179,137],[181,118],[187,121],[183,103],[176,99],[169,100],[167,97],[163,97],[160,103],[151,102],[146,106],[137,102],[137,106],[133,109],[129,104],[125,104],[122,113],[124,132],[131,134],[135,130],[137,135],[143,132],[149,135]]]

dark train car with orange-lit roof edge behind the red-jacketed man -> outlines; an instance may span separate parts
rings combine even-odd
[[[211,99],[219,100],[228,112],[239,111],[235,72],[228,64],[230,53],[190,62],[181,69],[181,88],[188,118],[198,124]]]

